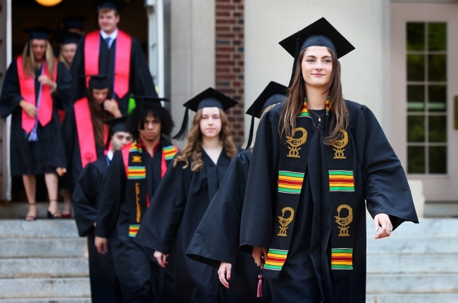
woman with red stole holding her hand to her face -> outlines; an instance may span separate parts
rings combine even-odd
[[[61,136],[54,145],[51,162],[73,191],[83,168],[108,149],[109,128],[104,120],[121,117],[116,101],[111,98],[109,79],[105,75],[89,77],[87,97],[73,104],[62,122]]]

